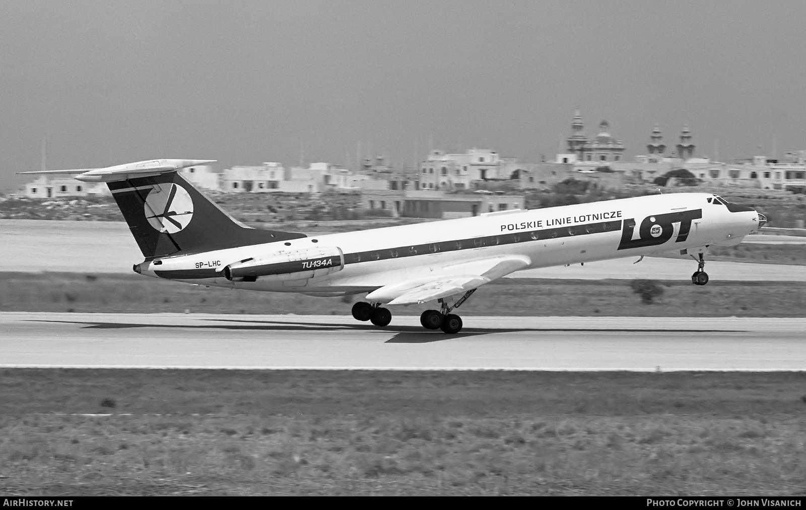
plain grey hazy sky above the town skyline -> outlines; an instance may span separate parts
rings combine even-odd
[[[0,1],[0,189],[40,167],[806,149],[806,2]]]

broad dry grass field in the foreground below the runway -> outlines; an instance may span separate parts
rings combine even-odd
[[[0,494],[806,495],[804,394],[800,373],[2,370]]]

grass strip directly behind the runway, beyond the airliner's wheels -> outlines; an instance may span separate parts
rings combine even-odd
[[[480,287],[459,311],[463,316],[806,316],[801,282],[656,284],[660,294],[643,304],[629,280],[502,278]],[[137,274],[0,273],[0,311],[347,315],[356,299],[231,291]]]

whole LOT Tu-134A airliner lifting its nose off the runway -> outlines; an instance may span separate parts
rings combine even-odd
[[[178,173],[212,161],[139,161],[77,173],[106,182],[145,260],[135,272],[251,291],[314,296],[366,293],[352,315],[384,327],[383,305],[437,302],[422,312],[428,329],[456,333],[452,313],[476,289],[515,271],[652,253],[688,253],[705,285],[709,245],[736,245],[764,215],[710,193],[654,194],[545,209],[306,236],[248,228]]]

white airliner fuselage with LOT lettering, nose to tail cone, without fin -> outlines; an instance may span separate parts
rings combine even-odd
[[[397,282],[429,282],[467,273],[467,264],[519,256],[523,269],[733,245],[758,229],[756,211],[731,212],[713,194],[656,194],[471,218],[310,236],[143,262],[140,272],[205,286],[344,295]],[[233,282],[226,265],[291,250],[337,247],[343,269],[310,278]],[[413,253],[416,252],[416,253]],[[201,270],[193,278],[185,271]],[[206,271],[206,273],[204,273]],[[209,277],[208,277],[209,276]]]

